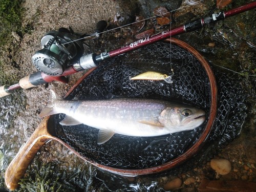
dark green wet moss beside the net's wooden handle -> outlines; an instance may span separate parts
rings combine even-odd
[[[67,170],[66,167],[59,166],[59,162],[41,163],[36,159],[15,191],[83,191],[88,179],[86,173],[82,167]]]

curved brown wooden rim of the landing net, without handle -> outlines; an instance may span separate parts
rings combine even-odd
[[[206,143],[207,138],[209,136],[209,133],[211,132],[212,125],[214,124],[214,120],[216,118],[217,114],[217,102],[218,102],[218,90],[217,90],[217,82],[216,78],[214,75],[214,72],[211,70],[208,62],[203,58],[203,56],[193,47],[188,45],[186,42],[181,41],[176,38],[168,38],[164,40],[165,42],[169,42],[172,44],[175,44],[185,50],[187,50],[189,53],[193,54],[201,63],[203,68],[206,71],[206,74],[209,78],[209,87],[210,87],[210,100],[211,100],[211,105],[210,105],[210,110],[209,110],[209,118],[206,123],[205,129],[203,130],[200,138],[196,141],[194,145],[192,145],[186,152],[184,152],[182,155],[178,156],[177,158],[168,161],[167,163],[164,163],[159,166],[154,166],[154,167],[148,167],[148,168],[141,168],[141,169],[124,169],[124,168],[115,168],[111,166],[106,166],[102,165],[99,163],[91,162],[88,160],[86,157],[81,156],[79,153],[74,151],[67,143],[61,142],[70,150],[72,150],[78,157],[81,159],[93,164],[94,166],[106,170],[108,172],[118,174],[118,175],[125,175],[125,176],[139,176],[139,175],[148,175],[148,174],[155,174],[155,173],[160,173],[164,172],[168,169],[174,168],[182,163],[184,163],[186,160],[190,159],[191,157],[195,156],[197,152],[201,150],[203,145]],[[69,92],[65,95],[65,98],[74,90],[76,87],[80,84],[80,82],[84,79],[87,78],[88,75],[90,75],[96,68],[90,69],[87,71],[77,82],[76,84],[69,90]],[[59,139],[58,139],[59,140]],[[60,142],[60,141],[59,141]]]

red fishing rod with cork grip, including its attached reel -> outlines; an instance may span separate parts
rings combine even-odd
[[[227,17],[237,15],[254,8],[256,8],[256,1],[228,11],[213,13],[210,16],[192,20],[191,22],[185,23],[175,29],[165,30],[157,34],[147,36],[110,52],[105,51],[100,54],[91,53],[81,57],[79,56],[83,51],[81,40],[86,38],[86,35],[79,36],[75,34],[73,30],[65,28],[59,29],[58,32],[49,32],[41,39],[42,49],[32,56],[32,62],[39,72],[20,79],[18,83],[13,84],[12,86],[1,86],[0,97],[9,95],[12,91],[19,88],[29,89],[54,80],[67,83],[68,79],[66,76],[79,71],[95,68],[101,61],[122,55],[171,36],[196,31],[205,25],[216,23]],[[96,28],[99,30],[92,36],[98,37],[101,31],[103,31],[103,28],[105,28],[105,24],[102,25],[102,23],[100,23],[97,25],[98,26],[96,26]],[[88,37],[90,37],[90,35]]]

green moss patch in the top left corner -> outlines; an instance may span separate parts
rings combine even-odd
[[[22,35],[23,0],[0,1],[0,46],[11,42],[12,31]]]

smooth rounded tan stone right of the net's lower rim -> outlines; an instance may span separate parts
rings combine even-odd
[[[231,171],[231,163],[227,159],[212,159],[210,166],[220,175],[226,175]]]

